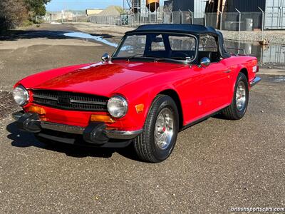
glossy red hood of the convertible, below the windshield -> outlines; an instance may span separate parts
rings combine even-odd
[[[26,88],[94,93],[110,96],[115,89],[146,76],[170,71],[183,65],[154,62],[95,63],[58,68],[25,78]],[[151,71],[150,71],[151,70]]]

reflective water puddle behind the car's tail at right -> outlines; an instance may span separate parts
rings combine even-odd
[[[224,41],[226,47],[244,49],[245,53],[250,56],[256,56],[260,63],[277,63],[285,65],[285,45],[261,46],[258,43],[240,43],[238,41]],[[229,52],[237,54],[232,49]],[[243,54],[241,52],[241,54]]]

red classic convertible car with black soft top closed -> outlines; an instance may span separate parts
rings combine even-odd
[[[222,34],[199,25],[140,26],[102,59],[16,83],[19,129],[46,143],[133,143],[142,161],[157,163],[179,131],[217,113],[242,118],[261,80],[257,58],[227,53]]]

